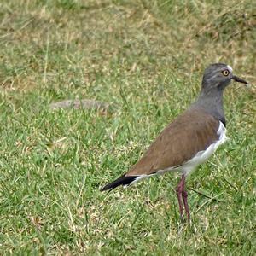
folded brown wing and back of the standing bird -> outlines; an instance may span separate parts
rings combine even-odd
[[[125,177],[182,165],[218,140],[218,126],[218,119],[201,110],[186,111],[160,133]]]

